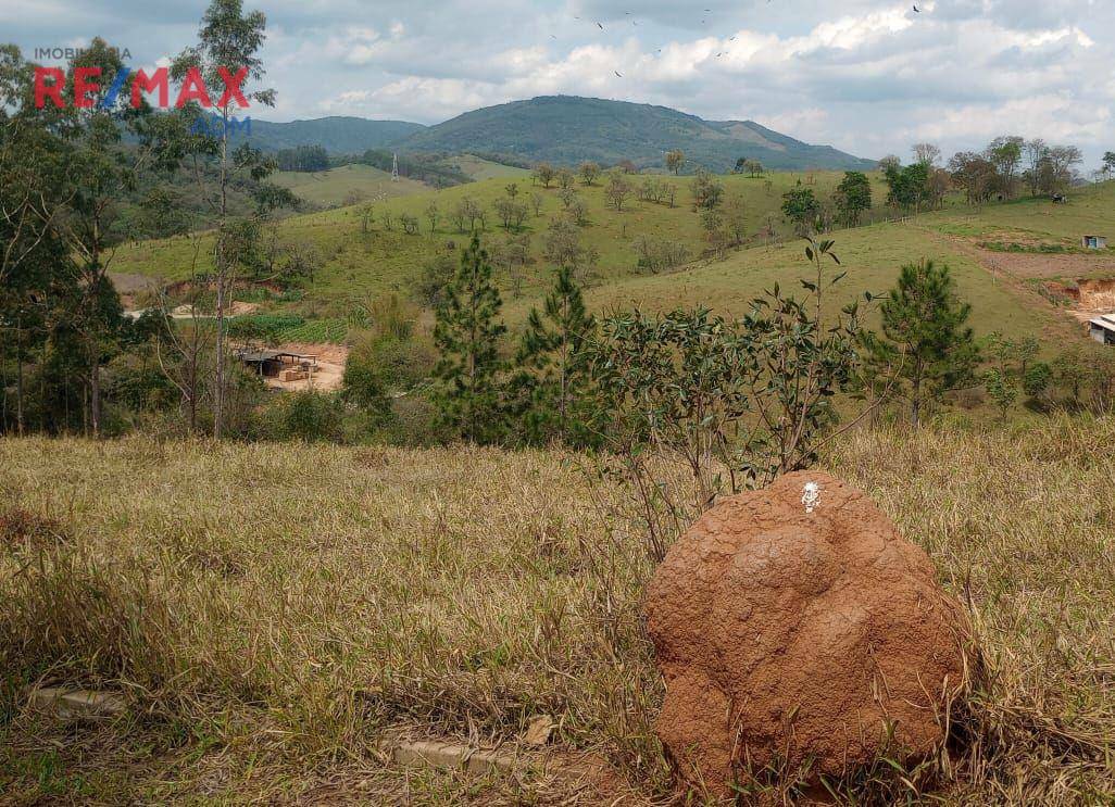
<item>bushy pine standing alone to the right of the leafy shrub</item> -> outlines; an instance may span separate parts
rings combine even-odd
[[[902,268],[881,309],[883,333],[866,342],[869,361],[896,375],[917,426],[927,402],[975,381],[971,305],[957,296],[948,266],[922,261]]]

